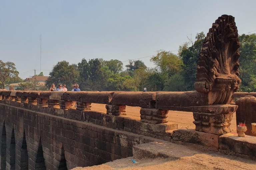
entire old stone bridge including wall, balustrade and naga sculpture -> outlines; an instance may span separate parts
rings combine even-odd
[[[256,109],[254,93],[236,93],[239,47],[234,17],[222,15],[202,45],[196,91],[0,91],[0,169],[99,165],[130,157],[139,145],[166,141],[255,160],[255,133],[230,133],[236,111],[237,122],[247,120],[253,131],[248,123]],[[105,104],[106,112],[92,111],[92,103]],[[141,119],[127,118],[126,106],[140,107]],[[195,129],[168,123],[172,111],[193,112]]]

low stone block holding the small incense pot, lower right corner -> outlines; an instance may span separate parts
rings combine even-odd
[[[219,149],[226,154],[256,159],[256,137],[236,133],[227,133],[219,137]]]

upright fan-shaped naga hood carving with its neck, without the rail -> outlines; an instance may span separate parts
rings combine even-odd
[[[238,31],[234,17],[222,15],[205,37],[197,65],[196,91],[209,93],[209,104],[227,104],[241,83]]]

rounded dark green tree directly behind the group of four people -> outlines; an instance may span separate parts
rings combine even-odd
[[[79,71],[76,64],[69,64],[67,61],[59,61],[53,66],[49,73],[49,78],[46,80],[46,86],[50,88],[51,84],[66,84],[66,88],[71,90],[71,86],[77,82]]]

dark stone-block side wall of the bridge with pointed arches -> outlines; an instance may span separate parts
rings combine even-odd
[[[10,103],[12,106],[0,104],[1,169],[54,170],[98,165],[132,156],[133,145],[153,141],[138,134],[36,112],[32,104],[19,107],[19,102]],[[33,107],[51,112],[49,107]]]

